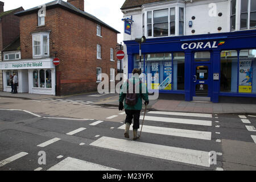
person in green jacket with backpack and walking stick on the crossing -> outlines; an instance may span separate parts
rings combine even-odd
[[[142,98],[145,101],[145,105],[149,104],[146,85],[142,84],[139,75],[141,75],[141,71],[139,69],[134,69],[133,76],[123,84],[119,95],[119,110],[123,110],[123,100],[125,100],[125,138],[130,138],[129,130],[133,120],[133,140],[139,138],[138,129],[142,110]],[[135,92],[135,90],[138,91]]]

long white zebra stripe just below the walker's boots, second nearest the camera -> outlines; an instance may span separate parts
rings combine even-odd
[[[163,146],[152,143],[135,142],[131,140],[110,137],[101,137],[100,139],[91,143],[90,146],[108,148],[121,152],[129,152],[131,154],[210,167],[209,152],[205,151]]]

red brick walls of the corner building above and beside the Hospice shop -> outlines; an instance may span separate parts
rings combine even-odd
[[[32,58],[31,32],[51,30],[50,56],[57,51],[61,63],[59,95],[92,92],[97,90],[96,68],[110,75],[110,68],[117,72],[117,61],[110,61],[110,48],[117,44],[117,34],[101,26],[102,38],[96,35],[97,24],[61,8],[47,10],[46,26],[37,28],[37,14],[20,17],[20,43],[22,59]],[[97,44],[101,45],[102,60],[97,60]],[[116,60],[116,59],[115,59]]]

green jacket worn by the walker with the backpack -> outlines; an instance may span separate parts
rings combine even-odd
[[[139,77],[135,77],[135,76],[132,76],[130,79],[129,79],[129,82],[131,83],[134,83],[135,85],[138,84],[139,82]],[[126,100],[125,97],[126,97],[126,93],[127,93],[127,89],[129,89],[129,82],[125,81],[123,83],[123,85],[127,84],[127,88],[125,88],[125,86],[122,86],[121,90],[120,90],[120,94],[119,94],[119,102],[123,102],[123,100]],[[123,90],[123,89],[126,89],[126,90]],[[142,98],[144,101],[148,101],[148,92],[147,92],[147,86],[145,84],[142,84],[142,83],[139,83],[139,89],[140,89],[140,92],[138,94],[138,102],[136,105],[134,106],[130,106],[130,105],[127,105],[125,104],[125,110],[142,110]],[[146,93],[141,93],[142,91],[145,91],[146,90]]]

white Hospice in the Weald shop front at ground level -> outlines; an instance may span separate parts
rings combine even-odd
[[[18,75],[18,93],[55,96],[55,65],[53,58],[2,61],[3,91],[11,92],[10,76]]]

